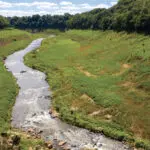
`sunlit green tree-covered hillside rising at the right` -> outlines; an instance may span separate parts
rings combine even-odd
[[[77,14],[67,21],[71,29],[100,29],[150,33],[150,0],[119,0],[110,9]]]

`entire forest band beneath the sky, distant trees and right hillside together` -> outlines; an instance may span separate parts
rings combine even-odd
[[[11,26],[19,29],[111,29],[150,33],[149,8],[149,0],[119,0],[117,5],[109,9],[94,9],[82,14],[33,15],[32,17],[12,17],[8,20]],[[0,28],[3,28],[4,25],[1,25],[1,22]],[[7,26],[7,21],[4,22]]]

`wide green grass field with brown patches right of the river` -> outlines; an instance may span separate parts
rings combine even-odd
[[[150,149],[150,37],[71,30],[25,57],[71,124]]]

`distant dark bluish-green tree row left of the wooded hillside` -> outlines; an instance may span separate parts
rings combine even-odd
[[[64,15],[33,15],[26,17],[8,18],[10,25],[19,29],[32,29],[42,31],[44,29],[60,29],[66,28],[66,22],[70,18],[70,14]]]

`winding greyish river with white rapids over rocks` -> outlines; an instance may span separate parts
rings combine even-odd
[[[17,79],[20,87],[12,111],[12,127],[27,130],[34,128],[42,131],[42,137],[51,141],[66,141],[71,150],[96,148],[98,150],[127,150],[127,145],[68,125],[49,114],[51,92],[45,81],[45,74],[24,65],[24,56],[40,47],[42,38],[33,41],[27,48],[8,56],[5,66]],[[56,147],[56,149],[61,149]]]

